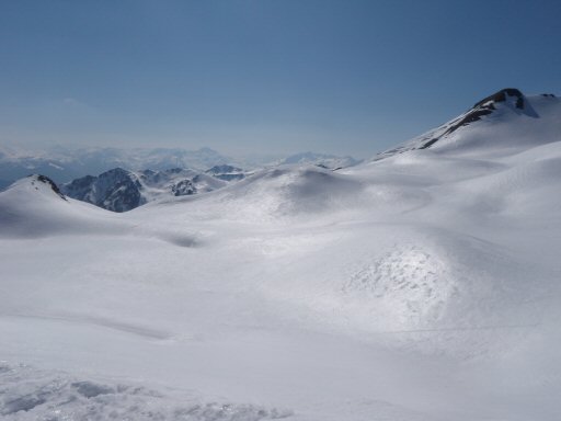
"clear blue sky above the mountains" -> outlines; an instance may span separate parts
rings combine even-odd
[[[0,143],[368,157],[561,94],[558,1],[0,0]]]

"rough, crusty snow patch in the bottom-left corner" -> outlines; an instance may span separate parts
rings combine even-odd
[[[265,421],[293,412],[251,405],[204,401],[197,396],[139,385],[71,378],[30,366],[0,365],[0,416],[13,421],[188,420]]]

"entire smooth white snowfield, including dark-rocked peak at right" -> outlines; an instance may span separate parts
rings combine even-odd
[[[127,214],[19,181],[0,417],[561,419],[561,101],[483,105],[369,163]]]

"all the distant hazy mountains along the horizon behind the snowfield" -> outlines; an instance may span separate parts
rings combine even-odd
[[[337,169],[359,163],[352,157],[302,152],[273,162],[238,160],[210,148],[53,148],[31,152],[0,148],[0,191],[30,173],[49,177],[65,194],[114,212],[126,212],[165,195],[209,192],[241,180],[256,168],[309,163]],[[252,162],[252,163],[250,163]]]

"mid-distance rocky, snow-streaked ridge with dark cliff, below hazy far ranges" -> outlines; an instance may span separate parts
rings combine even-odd
[[[164,196],[211,192],[227,181],[243,178],[240,169],[213,167],[205,172],[174,168],[163,171],[127,171],[115,168],[99,177],[87,175],[62,184],[68,196],[113,212],[127,212]]]

